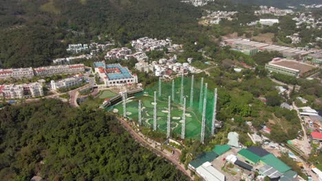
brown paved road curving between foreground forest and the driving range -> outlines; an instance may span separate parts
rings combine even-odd
[[[155,154],[158,154],[159,156],[163,156],[164,158],[167,158],[167,160],[172,162],[178,169],[180,169],[180,171],[182,171],[186,176],[189,176],[189,178],[193,180],[193,177],[190,176],[190,170],[184,169],[184,165],[180,164],[179,162],[180,152],[178,150],[174,150],[175,154],[172,154],[172,156],[169,154],[165,154],[164,152],[161,152],[159,149],[156,149],[155,147],[153,147],[155,143],[148,143],[147,141],[145,141],[144,138],[140,136],[140,134],[138,134],[131,128],[131,125],[129,125],[127,121],[120,118],[118,118],[118,121],[122,123],[125,130],[127,130],[133,136],[133,138],[136,139],[136,141],[144,145],[144,147],[148,147],[149,149],[152,149],[153,152],[155,152]]]

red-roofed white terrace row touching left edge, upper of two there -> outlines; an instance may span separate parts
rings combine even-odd
[[[34,77],[34,71],[32,68],[20,68],[20,69],[0,69],[0,79],[7,79],[14,77],[21,79],[23,77],[32,78]]]

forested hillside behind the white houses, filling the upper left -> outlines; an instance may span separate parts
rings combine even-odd
[[[200,10],[178,0],[0,0],[2,67],[50,64],[68,43],[104,34],[119,43],[150,36],[191,40]]]

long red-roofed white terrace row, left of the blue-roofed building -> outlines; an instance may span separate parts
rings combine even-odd
[[[56,74],[82,73],[85,71],[84,64],[57,65],[49,67],[39,67],[34,69],[36,76],[50,76]]]

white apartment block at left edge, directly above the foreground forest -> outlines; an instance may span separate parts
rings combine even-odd
[[[43,96],[43,86],[38,82],[0,86],[0,97],[5,97],[6,99],[23,99],[41,96]]]

